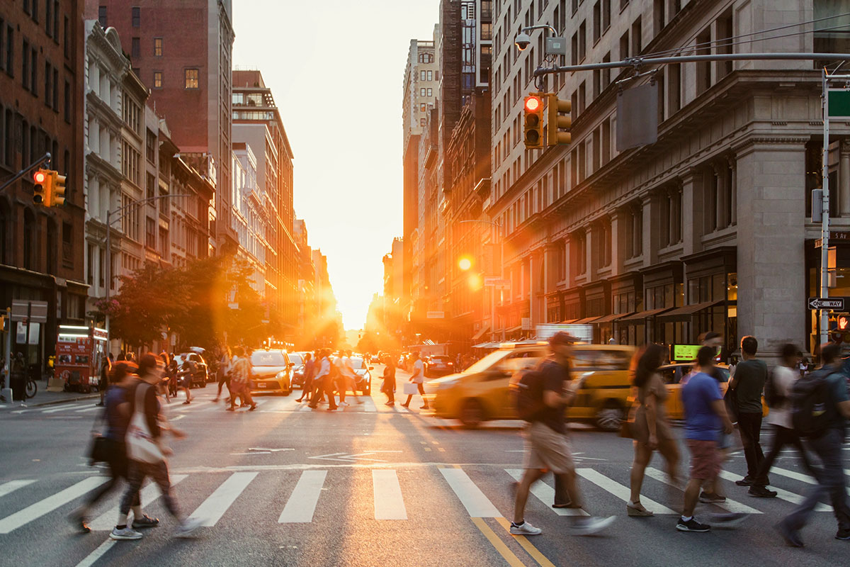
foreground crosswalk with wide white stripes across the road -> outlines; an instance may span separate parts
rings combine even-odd
[[[434,465],[433,467],[439,472],[436,474],[433,468],[391,467],[392,465],[371,468],[371,473],[368,475],[363,473],[363,468],[305,466],[303,470],[296,468],[240,470],[229,473],[178,472],[173,474],[171,479],[172,484],[178,486],[176,491],[178,500],[181,502],[184,500],[180,497],[181,494],[200,495],[203,498],[202,502],[196,504],[190,517],[199,519],[202,525],[212,528],[228,513],[234,513],[232,508],[241,499],[255,502],[258,496],[261,502],[269,502],[269,506],[282,504],[282,507],[277,508],[280,512],[275,512],[275,514],[279,513],[278,524],[311,524],[316,521],[317,509],[323,506],[323,502],[337,502],[340,496],[335,492],[342,490],[340,486],[353,484],[363,485],[362,490],[354,490],[347,494],[357,494],[357,499],[360,501],[357,505],[360,509],[364,513],[368,509],[368,515],[381,522],[422,520],[411,513],[411,509],[422,513],[422,507],[419,505],[421,501],[417,500],[422,497],[422,494],[428,494],[428,498],[453,498],[456,509],[463,510],[469,518],[500,519],[510,517],[512,512],[513,501],[509,496],[506,497],[509,493],[507,486],[511,479],[519,480],[523,473],[518,468],[473,467],[471,470],[466,470],[461,466]],[[404,477],[404,482],[399,477],[399,471]],[[576,472],[581,477],[581,491],[592,511],[600,509],[622,511],[623,502],[629,498],[628,486],[624,484],[628,482],[627,471],[612,473],[609,469],[598,467],[579,468]],[[727,502],[717,507],[729,512],[752,514],[767,513],[768,508],[772,513],[782,509],[788,511],[790,510],[788,504],[776,502],[776,500],[790,504],[802,502],[804,497],[802,492],[814,482],[805,474],[785,468],[774,467],[772,474],[789,479],[792,485],[799,485],[799,493],[772,486],[773,490],[779,492],[777,499],[770,501],[752,499],[751,504],[744,504],[729,498]],[[270,477],[269,475],[280,476]],[[739,475],[728,471],[723,471],[722,477],[728,480],[740,478]],[[46,490],[50,490],[46,479],[13,479],[0,483],[0,515],[8,513],[0,518],[0,536],[21,530],[39,520],[55,518],[57,513],[69,513],[72,507],[79,505],[82,496],[105,481],[105,477],[90,476],[77,480],[71,485],[56,487],[56,491],[52,494],[45,494]],[[293,481],[294,486],[292,486]],[[433,483],[439,486],[434,486]],[[40,488],[40,485],[43,486]],[[670,490],[671,487],[674,490]],[[24,493],[26,498],[23,497]],[[366,495],[369,494],[371,494],[371,502],[363,502],[368,500],[369,496]],[[681,487],[672,486],[665,474],[656,468],[647,468],[644,494],[652,494],[655,498],[668,495],[670,500],[666,502],[667,505],[649,496],[642,496],[644,506],[658,515],[675,515],[682,502]],[[539,482],[534,485],[531,495],[535,503],[533,506],[530,504],[530,507],[533,507],[536,513],[553,514],[553,518],[587,515],[584,510],[551,507],[554,489],[548,482]],[[144,486],[140,496],[142,506],[150,507],[160,499],[160,492],[156,485],[149,484]],[[35,502],[15,509],[14,506],[8,505],[10,498],[14,499],[14,502],[25,502],[25,504],[28,498]],[[118,514],[117,498],[113,496],[109,501],[109,506],[102,505],[93,515],[94,519],[90,522],[92,530],[111,530],[114,525]],[[412,508],[411,504],[414,504]],[[64,512],[57,512],[60,508],[64,508]],[[831,507],[821,504],[817,511],[830,512]],[[439,519],[442,520],[442,518]]]

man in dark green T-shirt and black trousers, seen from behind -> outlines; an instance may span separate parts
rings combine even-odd
[[[776,492],[766,488],[770,484],[767,474],[757,474],[764,462],[759,438],[762,431],[762,391],[768,379],[768,366],[756,358],[757,350],[756,337],[748,335],[741,339],[741,356],[744,360],[740,361],[734,377],[729,380],[729,388],[734,390],[738,406],[738,430],[741,443],[744,444],[747,468],[746,476],[736,480],[735,484],[750,486],[751,496],[771,497],[776,496]]]

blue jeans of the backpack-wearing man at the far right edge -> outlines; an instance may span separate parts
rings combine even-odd
[[[808,493],[802,504],[783,520],[791,530],[802,529],[814,507],[826,495],[830,496],[830,503],[838,520],[838,529],[850,530],[850,507],[847,506],[842,468],[843,444],[844,433],[838,429],[828,429],[818,439],[808,439],[807,445],[820,458],[820,467],[814,469],[818,485]]]

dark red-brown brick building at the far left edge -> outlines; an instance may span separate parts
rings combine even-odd
[[[48,303],[37,344],[12,335],[12,350],[38,366],[54,353],[57,325],[85,318],[83,35],[74,0],[0,3],[0,183],[46,152],[67,178],[64,207],[34,205],[31,175],[0,193],[0,309]]]

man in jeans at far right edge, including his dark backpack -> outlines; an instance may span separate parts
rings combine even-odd
[[[847,394],[847,377],[842,373],[841,347],[825,344],[820,348],[820,360],[822,366],[797,380],[791,390],[794,429],[807,439],[809,448],[820,458],[815,475],[818,485],[794,512],[776,524],[776,530],[792,547],[803,547],[800,530],[826,495],[830,496],[838,520],[836,539],[850,541],[850,507],[842,468],[850,395]]]

